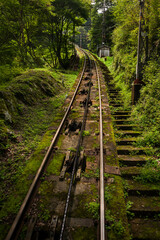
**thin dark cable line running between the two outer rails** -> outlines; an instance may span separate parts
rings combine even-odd
[[[83,52],[88,56],[88,54],[85,51],[83,51]],[[91,62],[90,62],[90,68],[91,68]],[[87,112],[88,112],[88,102],[89,102],[89,99],[90,99],[90,91],[91,91],[91,79],[89,81],[89,90],[88,90],[88,96],[87,96],[87,101],[86,101],[86,105],[85,105],[85,111],[84,111],[84,115],[83,115],[82,127],[81,127],[81,131],[80,131],[78,144],[77,144],[77,147],[76,147],[76,156],[75,156],[75,159],[74,159],[74,165],[73,165],[73,169],[72,169],[71,180],[70,180],[70,184],[69,184],[69,190],[68,190],[67,200],[66,200],[65,209],[64,209],[64,215],[63,215],[61,231],[60,231],[60,240],[63,239],[65,223],[66,223],[66,218],[67,218],[67,212],[68,212],[68,207],[69,207],[69,201],[70,201],[70,196],[71,196],[71,190],[72,190],[72,186],[73,186],[73,183],[74,183],[75,173],[76,173],[76,170],[77,170],[80,146],[81,146],[82,140],[83,140],[83,131],[85,129]]]

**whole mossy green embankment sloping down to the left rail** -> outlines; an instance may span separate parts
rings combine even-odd
[[[13,215],[62,119],[78,71],[28,70],[0,87],[0,219]],[[3,237],[6,224],[1,225]]]

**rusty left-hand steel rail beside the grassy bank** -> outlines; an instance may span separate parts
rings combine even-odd
[[[38,183],[38,181],[40,179],[40,176],[43,173],[44,167],[47,164],[47,161],[48,161],[48,158],[49,158],[49,156],[51,154],[53,146],[56,143],[56,140],[57,140],[57,138],[59,136],[59,133],[60,133],[62,127],[63,127],[63,124],[64,124],[64,122],[65,122],[65,120],[66,120],[66,118],[68,116],[68,113],[69,113],[69,111],[71,109],[71,106],[73,104],[75,96],[76,96],[76,94],[78,92],[79,86],[80,86],[80,84],[82,82],[82,78],[83,78],[83,75],[84,75],[85,67],[86,67],[86,56],[85,56],[85,60],[84,60],[84,66],[83,66],[82,74],[81,74],[80,80],[78,82],[78,85],[76,87],[76,90],[74,92],[74,95],[73,95],[73,97],[71,99],[71,102],[70,102],[70,104],[69,104],[69,106],[67,108],[67,111],[66,111],[66,113],[65,113],[65,115],[64,115],[64,117],[63,117],[63,119],[62,119],[62,121],[61,121],[61,123],[60,123],[60,125],[59,125],[59,127],[58,127],[58,129],[57,129],[57,131],[56,131],[56,133],[54,135],[54,137],[53,137],[53,139],[52,139],[52,142],[51,142],[51,144],[50,144],[50,146],[49,146],[49,148],[47,150],[47,153],[46,153],[46,155],[45,155],[45,157],[44,157],[44,159],[43,159],[43,161],[41,163],[41,166],[39,167],[39,169],[38,169],[38,171],[36,173],[36,176],[34,177],[34,180],[33,180],[32,184],[31,184],[31,186],[30,186],[30,188],[29,188],[29,190],[27,192],[27,195],[26,195],[26,197],[25,197],[25,199],[24,199],[24,201],[23,201],[23,203],[22,203],[22,205],[20,207],[20,210],[19,210],[18,214],[16,215],[16,218],[15,218],[15,220],[14,220],[14,222],[13,222],[13,224],[12,224],[12,226],[11,226],[11,228],[10,228],[6,238],[5,238],[5,240],[13,240],[13,239],[15,239],[15,236],[17,235],[16,231],[18,231],[18,228],[21,225],[22,218],[23,218],[23,216],[25,214],[25,211],[26,211],[27,206],[29,204],[29,201],[30,201],[30,199],[32,197],[32,194],[34,193],[34,190],[36,188],[36,184]]]

